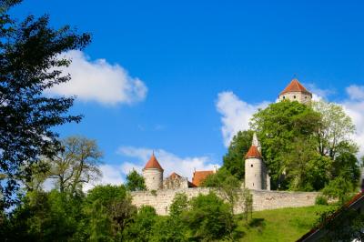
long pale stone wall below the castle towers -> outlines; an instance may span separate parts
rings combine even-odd
[[[157,191],[132,192],[133,204],[136,207],[149,205],[156,208],[158,215],[167,215],[169,206],[177,193],[185,193],[188,198],[197,197],[198,194],[208,194],[211,188],[181,188],[163,189]],[[283,207],[305,207],[315,204],[319,195],[317,192],[286,192],[251,190],[253,195],[253,209],[255,211],[276,209]],[[235,212],[240,213],[242,207],[235,207]]]

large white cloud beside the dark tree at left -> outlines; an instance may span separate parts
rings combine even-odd
[[[62,55],[72,60],[64,69],[72,79],[47,91],[51,95],[77,96],[82,101],[96,101],[106,105],[133,104],[147,96],[147,86],[128,75],[126,69],[111,65],[106,59],[90,61],[83,52],[73,50]]]

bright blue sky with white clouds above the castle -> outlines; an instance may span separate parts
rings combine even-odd
[[[77,85],[53,92],[78,95],[71,112],[85,118],[58,130],[96,139],[117,183],[153,149],[185,176],[221,164],[229,137],[294,75],[364,125],[364,4],[272,2],[26,0],[12,13],[93,35],[69,54]]]

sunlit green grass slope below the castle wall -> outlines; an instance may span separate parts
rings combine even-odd
[[[315,224],[319,213],[327,206],[282,208],[253,213],[246,224],[239,221],[239,230],[244,231],[241,241],[296,241]]]

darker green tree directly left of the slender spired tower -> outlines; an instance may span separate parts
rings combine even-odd
[[[232,175],[242,180],[245,176],[245,155],[248,153],[253,138],[253,131],[239,131],[233,137],[227,154],[223,157],[223,167]]]

